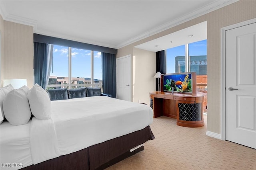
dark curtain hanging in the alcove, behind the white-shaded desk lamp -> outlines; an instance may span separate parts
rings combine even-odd
[[[156,52],[156,72],[160,72],[161,74],[166,74],[165,50]],[[156,91],[158,91],[158,81],[156,81]]]

